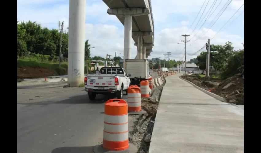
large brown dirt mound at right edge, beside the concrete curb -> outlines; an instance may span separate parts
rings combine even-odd
[[[241,74],[224,80],[211,92],[223,97],[228,103],[244,104],[244,80]]]

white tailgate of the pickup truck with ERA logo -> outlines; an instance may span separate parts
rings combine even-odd
[[[87,86],[115,86],[114,76],[88,76]]]

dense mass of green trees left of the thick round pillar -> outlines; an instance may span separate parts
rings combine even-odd
[[[56,29],[42,28],[36,22],[17,21],[17,54],[24,56],[30,53],[59,56],[60,33]],[[62,33],[61,53],[68,57],[68,34]]]

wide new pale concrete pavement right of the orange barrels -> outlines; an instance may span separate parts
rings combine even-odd
[[[243,153],[244,113],[181,80],[166,77],[149,153]]]

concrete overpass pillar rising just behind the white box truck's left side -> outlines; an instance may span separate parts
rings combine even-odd
[[[123,50],[123,69],[125,69],[125,59],[131,58],[131,31],[132,16],[124,16],[124,50]]]

